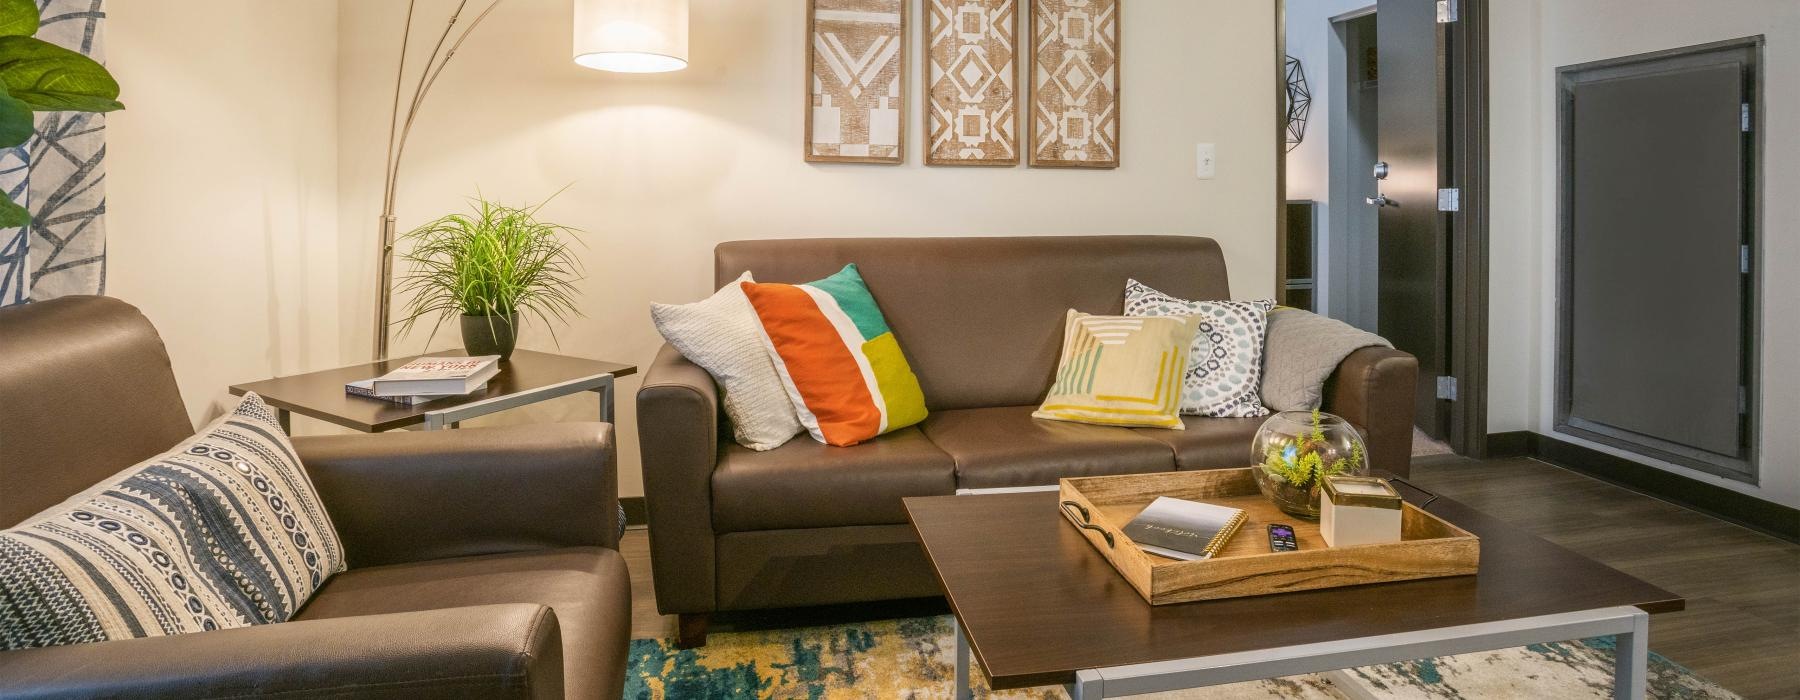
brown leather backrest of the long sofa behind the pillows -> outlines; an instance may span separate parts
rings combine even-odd
[[[887,317],[931,410],[1039,403],[1064,311],[1116,315],[1125,281],[1229,299],[1219,243],[1192,236],[826,238],[720,243],[713,284],[810,283],[848,263]]]

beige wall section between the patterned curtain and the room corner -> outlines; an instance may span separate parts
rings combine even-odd
[[[191,417],[340,363],[337,5],[106,4],[106,293],[162,331]]]

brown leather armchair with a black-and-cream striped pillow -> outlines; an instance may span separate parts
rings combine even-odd
[[[247,349],[221,333],[218,351]],[[135,308],[0,310],[0,527],[191,434]],[[293,621],[0,651],[0,698],[621,695],[632,605],[610,425],[293,446],[349,560]]]

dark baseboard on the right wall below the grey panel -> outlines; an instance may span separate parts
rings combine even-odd
[[[1537,432],[1490,434],[1487,435],[1487,444],[1490,457],[1535,457],[1570,471],[1800,543],[1800,509],[1795,507]]]

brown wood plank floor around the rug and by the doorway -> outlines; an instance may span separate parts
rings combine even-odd
[[[1746,698],[1800,698],[1800,545],[1534,459],[1420,457],[1415,484],[1678,592],[1688,608],[1651,617],[1651,650]],[[626,533],[632,635],[671,637],[655,610],[650,540]],[[725,615],[715,630],[806,626],[941,612],[904,601]]]

